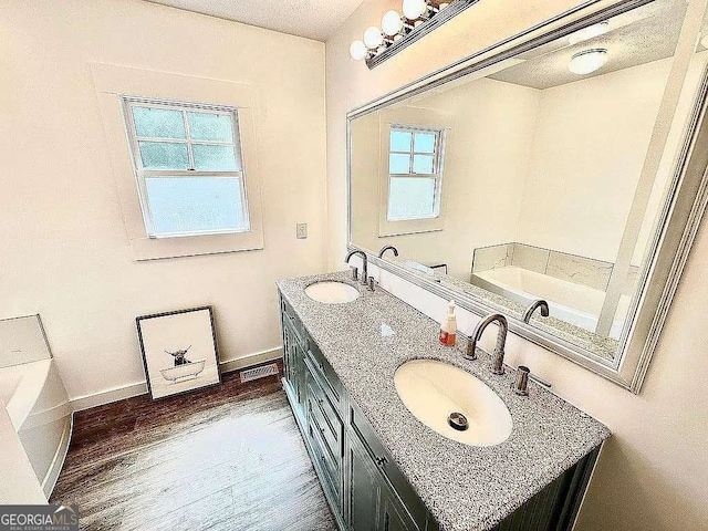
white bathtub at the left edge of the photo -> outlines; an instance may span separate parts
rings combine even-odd
[[[46,503],[71,428],[69,397],[53,360],[0,368],[0,504]]]

